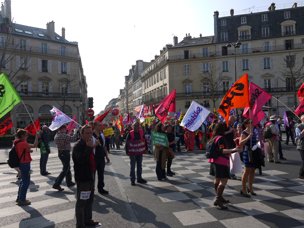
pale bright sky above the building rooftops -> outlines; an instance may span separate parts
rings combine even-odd
[[[214,11],[219,11],[220,17],[229,16],[230,9],[235,14],[261,12],[272,2],[11,0],[11,7],[14,22],[46,29],[47,22],[53,20],[57,34],[61,35],[64,27],[65,38],[78,42],[88,97],[94,98],[96,114],[118,97],[136,60],[150,62],[166,44],[173,44],[173,36],[178,36],[178,42],[186,33],[212,36]],[[282,0],[275,3],[277,9],[293,5]]]

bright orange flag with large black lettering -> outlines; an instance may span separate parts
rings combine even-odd
[[[248,75],[245,74],[231,86],[217,111],[228,124],[230,109],[250,107],[249,98]]]

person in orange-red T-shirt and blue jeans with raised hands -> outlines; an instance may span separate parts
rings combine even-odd
[[[19,190],[16,202],[18,205],[29,205],[31,202],[26,199],[27,189],[29,188],[29,182],[31,178],[31,161],[33,160],[30,153],[33,150],[30,148],[36,148],[38,145],[38,137],[40,134],[36,132],[36,138],[34,144],[29,144],[26,142],[28,137],[28,132],[23,129],[19,129],[16,133],[18,139],[13,142],[16,147],[16,152],[20,160],[19,170],[21,171],[21,180],[19,183]],[[24,152],[24,155],[22,155]]]

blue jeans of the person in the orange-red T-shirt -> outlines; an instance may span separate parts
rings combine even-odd
[[[20,184],[19,184],[19,190],[18,190],[17,198],[20,201],[25,201],[26,200],[26,192],[27,192],[27,189],[29,188],[29,181],[31,179],[31,174],[30,174],[31,163],[30,162],[20,163],[19,164],[19,169],[21,171],[21,181],[20,181]]]

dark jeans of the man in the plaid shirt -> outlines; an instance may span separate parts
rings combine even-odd
[[[68,152],[59,152],[58,151],[58,157],[63,165],[63,168],[59,174],[59,176],[56,178],[54,186],[61,185],[62,180],[65,177],[65,182],[67,182],[67,185],[72,183],[72,173],[71,173],[71,166],[70,166],[70,160],[71,155],[70,151]]]

